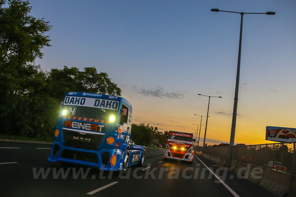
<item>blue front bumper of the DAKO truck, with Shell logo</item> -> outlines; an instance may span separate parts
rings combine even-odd
[[[59,148],[57,152],[57,147]],[[81,160],[79,158],[67,158],[64,156],[65,152],[71,152],[79,155],[91,155],[92,158],[84,157],[85,159]],[[109,152],[109,159],[107,164],[103,164],[102,162],[102,154]],[[51,154],[48,157],[48,161],[50,162],[66,162],[73,163],[78,165],[85,165],[90,167],[96,167],[100,170],[119,170],[120,166],[122,167],[123,155],[125,154],[125,150],[122,149],[109,149],[102,148],[101,150],[86,150],[86,149],[78,149],[73,147],[64,146],[60,141],[55,141],[52,144]],[[116,155],[114,159],[114,155]],[[113,158],[112,158],[113,157]],[[112,158],[112,162],[111,162]],[[106,163],[106,162],[105,162]],[[121,168],[120,168],[121,169]]]

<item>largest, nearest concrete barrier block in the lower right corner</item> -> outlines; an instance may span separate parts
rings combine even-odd
[[[264,168],[259,185],[279,196],[284,196],[291,192],[292,178],[291,174]]]

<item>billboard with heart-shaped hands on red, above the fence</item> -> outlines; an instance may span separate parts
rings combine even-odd
[[[296,142],[296,128],[266,126],[265,139],[286,143]]]

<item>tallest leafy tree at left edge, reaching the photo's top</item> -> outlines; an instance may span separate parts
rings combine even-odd
[[[6,3],[8,7],[3,7]],[[50,46],[45,32],[51,26],[44,18],[31,16],[30,10],[28,1],[0,0],[0,124],[4,133],[30,135],[38,124],[44,126],[38,121],[44,114],[30,110],[38,98],[34,93],[42,89],[46,78],[33,62],[42,58],[42,48]]]

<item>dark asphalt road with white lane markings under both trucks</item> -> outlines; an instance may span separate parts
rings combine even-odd
[[[192,164],[164,161],[164,149],[147,148],[144,167],[132,167],[123,177],[49,162],[50,148],[50,144],[0,141],[0,196],[274,196],[199,155]],[[226,172],[226,178],[221,176],[224,184],[202,162],[214,173],[220,170],[219,176]],[[38,176],[41,170],[43,178]],[[68,175],[55,174],[61,170]],[[79,170],[84,175],[77,176]]]

